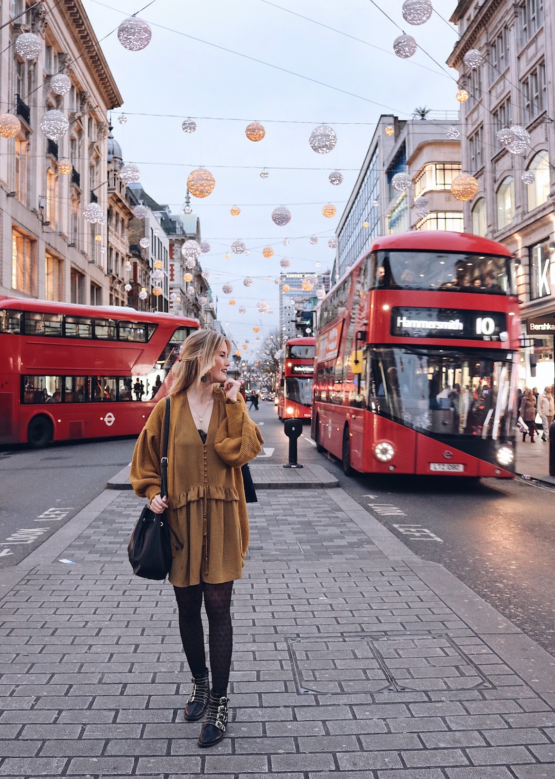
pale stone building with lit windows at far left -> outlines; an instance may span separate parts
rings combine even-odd
[[[33,9],[27,10],[30,5]],[[33,32],[37,58],[16,54],[19,34]],[[107,111],[121,105],[81,0],[48,8],[27,0],[0,5],[1,111],[17,115],[15,139],[0,139],[0,294],[93,305],[110,301],[105,234],[83,220],[91,200],[107,213]],[[52,76],[71,89],[58,97]],[[69,120],[58,143],[40,131],[40,118],[57,108]],[[61,160],[69,160],[62,174]]]

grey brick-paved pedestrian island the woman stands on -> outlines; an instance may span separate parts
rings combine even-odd
[[[0,601],[0,777],[554,779],[555,712],[325,492],[260,491],[214,749],[167,583],[126,556],[119,493]]]

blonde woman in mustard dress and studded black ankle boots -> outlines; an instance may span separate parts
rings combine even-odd
[[[165,400],[146,422],[133,454],[131,482],[183,544],[174,551],[168,576],[174,585],[183,648],[193,689],[187,721],[204,715],[199,746],[221,741],[227,722],[232,627],[230,601],[248,548],[248,516],[241,466],[262,448],[262,435],[248,417],[240,382],[227,378],[230,342],[213,330],[197,330],[183,344],[172,369],[169,495],[160,495]],[[209,622],[212,687],[205,662],[201,606]]]

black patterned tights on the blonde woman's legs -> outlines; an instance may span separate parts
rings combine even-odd
[[[201,675],[206,668],[204,633],[200,609],[202,595],[208,616],[210,670],[212,689],[218,696],[227,693],[230,679],[233,629],[231,627],[231,592],[234,583],[192,584],[191,587],[174,587],[179,612],[179,632],[189,668],[193,675]]]

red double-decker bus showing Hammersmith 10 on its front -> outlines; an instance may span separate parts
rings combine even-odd
[[[312,438],[346,474],[514,472],[515,263],[476,235],[388,235],[317,310]]]

